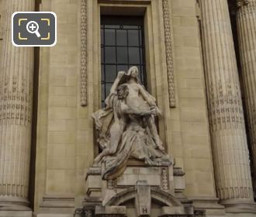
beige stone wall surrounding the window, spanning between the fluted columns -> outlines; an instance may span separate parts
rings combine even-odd
[[[88,105],[85,107],[80,105],[81,1],[43,0],[41,4],[42,11],[57,14],[57,45],[40,49],[36,210],[43,210],[49,200],[44,198],[42,203],[46,196],[58,195],[58,202],[63,204],[66,198],[72,198],[71,201],[75,198],[79,206],[85,195],[85,172],[92,166],[95,154],[90,114],[100,106],[99,5],[97,1],[87,2]],[[102,7],[128,6],[122,5],[122,1],[101,2]],[[163,12],[163,6],[168,13]],[[139,5],[129,4],[129,7],[147,11],[144,15],[147,83],[164,112],[159,121],[161,139],[168,153],[175,157],[176,166],[186,173],[185,194],[191,198],[215,198],[195,1],[140,1]],[[168,52],[174,65],[175,108],[169,106],[166,15],[171,28]],[[70,208],[74,207],[71,201]]]

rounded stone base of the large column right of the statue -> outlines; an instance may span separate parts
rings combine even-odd
[[[227,213],[256,213],[256,203],[245,199],[230,199],[220,201]]]

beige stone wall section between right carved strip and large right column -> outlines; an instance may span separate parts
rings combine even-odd
[[[178,106],[171,108],[169,125],[175,159],[186,173],[186,195],[214,197],[197,6],[194,0],[171,1]]]

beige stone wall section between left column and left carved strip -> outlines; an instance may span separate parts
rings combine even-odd
[[[53,198],[52,206],[63,202],[74,208],[77,144],[83,136],[78,126],[78,1],[42,1],[40,10],[57,14],[57,44],[40,49],[35,209]]]

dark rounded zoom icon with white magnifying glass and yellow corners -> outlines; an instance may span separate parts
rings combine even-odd
[[[57,41],[54,12],[12,14],[12,44],[17,47],[51,47]]]

